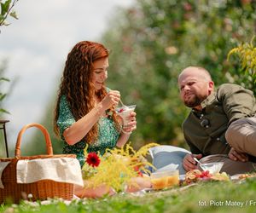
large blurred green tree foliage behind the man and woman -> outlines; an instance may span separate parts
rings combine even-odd
[[[179,100],[179,72],[204,66],[217,85],[230,81],[230,73],[238,72],[226,55],[234,43],[252,37],[253,11],[254,2],[230,0],[137,0],[119,10],[103,43],[112,52],[109,87],[120,90],[125,104],[137,104],[131,141],[138,147],[148,141],[184,146],[180,127],[188,109]]]

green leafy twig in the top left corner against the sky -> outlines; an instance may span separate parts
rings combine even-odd
[[[18,20],[18,16],[14,10],[12,10],[15,7],[15,3],[17,3],[19,0],[0,0],[1,3],[1,14],[0,14],[0,26],[8,26],[9,23],[6,22],[6,19],[8,16],[11,16]]]

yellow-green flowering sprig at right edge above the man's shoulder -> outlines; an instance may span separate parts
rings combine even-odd
[[[230,59],[230,55],[238,55],[239,62],[241,63],[241,74],[237,78],[243,74],[243,78],[245,79],[242,80],[242,83],[247,85],[248,89],[252,89],[254,95],[256,95],[256,47],[253,45],[254,38],[255,36],[250,43],[241,43],[238,47],[231,49],[228,60]]]

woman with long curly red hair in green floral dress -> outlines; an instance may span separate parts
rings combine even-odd
[[[120,93],[106,88],[108,49],[101,43],[77,43],[67,55],[55,107],[55,133],[64,141],[63,153],[74,153],[81,166],[87,152],[105,153],[122,147],[136,129],[136,113],[121,131],[114,107]],[[127,134],[129,132],[129,134]]]

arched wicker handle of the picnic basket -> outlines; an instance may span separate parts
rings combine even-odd
[[[20,142],[21,142],[21,137],[24,134],[24,132],[31,127],[37,127],[39,130],[42,131],[42,133],[44,134],[44,140],[46,142],[46,149],[47,149],[47,154],[49,155],[53,155],[53,150],[52,150],[52,146],[51,146],[51,141],[50,141],[50,137],[49,137],[49,132],[44,128],[43,125],[41,124],[36,124],[36,123],[32,123],[32,124],[26,124],[19,132],[19,135],[17,137],[17,141],[16,141],[16,147],[15,147],[15,157],[20,157]]]

